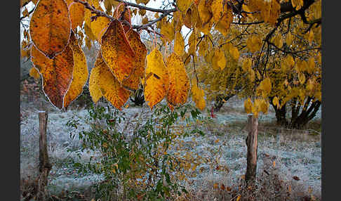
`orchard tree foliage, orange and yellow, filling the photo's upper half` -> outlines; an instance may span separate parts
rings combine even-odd
[[[119,110],[141,85],[151,109],[166,98],[173,110],[190,93],[203,110],[206,100],[238,94],[246,112],[267,113],[271,104],[290,127],[307,124],[321,105],[321,0],[178,0],[161,8],[149,0],[32,0],[28,11],[30,2],[20,1],[21,53],[57,108],[87,80],[93,102],[104,97]],[[93,44],[100,51],[88,72],[81,46]]]

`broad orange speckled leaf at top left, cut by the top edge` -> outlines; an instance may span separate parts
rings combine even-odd
[[[69,43],[71,21],[63,0],[40,0],[29,22],[34,46],[48,58],[61,53]]]

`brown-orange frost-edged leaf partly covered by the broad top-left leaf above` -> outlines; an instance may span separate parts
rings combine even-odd
[[[72,48],[67,46],[62,53],[50,59],[43,55],[35,46],[31,49],[31,60],[43,80],[43,91],[48,100],[57,108],[62,109],[64,97],[72,82],[74,58]]]

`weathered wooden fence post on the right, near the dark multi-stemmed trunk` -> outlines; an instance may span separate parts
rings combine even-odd
[[[254,115],[248,115],[248,137],[246,138],[246,146],[248,147],[247,164],[246,164],[246,183],[255,183],[257,171],[257,135],[258,135],[258,118]]]

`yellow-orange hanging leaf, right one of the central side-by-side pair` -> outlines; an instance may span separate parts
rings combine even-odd
[[[168,103],[178,106],[186,103],[190,84],[185,65],[180,56],[175,53],[167,58],[169,89],[167,93]]]

